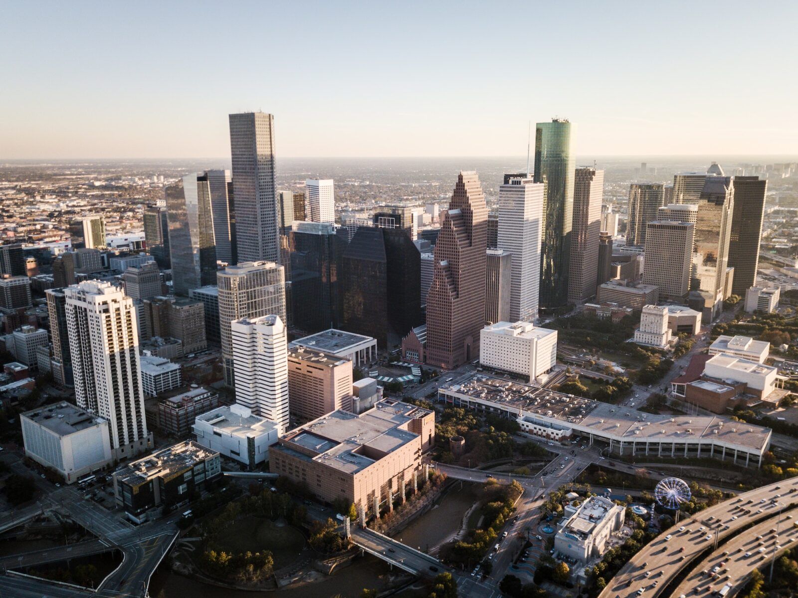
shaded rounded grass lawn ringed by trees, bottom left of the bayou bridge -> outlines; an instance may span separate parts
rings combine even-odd
[[[219,533],[213,544],[214,548],[225,552],[268,550],[275,559],[275,569],[279,569],[297,558],[305,545],[305,537],[290,525],[277,525],[271,519],[247,515]]]

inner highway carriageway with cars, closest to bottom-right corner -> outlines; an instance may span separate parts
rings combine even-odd
[[[774,556],[795,546],[798,528],[792,523],[796,517],[798,508],[790,509],[776,517],[776,521],[763,521],[745,530],[744,534],[733,537],[696,564],[693,572],[685,577],[673,595],[692,594],[709,598],[725,584],[742,588],[755,568],[767,565]],[[719,570],[713,572],[716,567]]]

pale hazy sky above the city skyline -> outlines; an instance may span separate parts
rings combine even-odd
[[[0,0],[0,159],[798,154],[796,2]],[[534,134],[534,132],[533,132]]]

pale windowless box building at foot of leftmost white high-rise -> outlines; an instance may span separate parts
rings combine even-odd
[[[19,416],[25,455],[55,469],[67,484],[113,461],[108,421],[60,402]]]

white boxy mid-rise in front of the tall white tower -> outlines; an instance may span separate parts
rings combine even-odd
[[[498,322],[481,331],[480,364],[534,382],[557,363],[557,331],[529,322]]]

